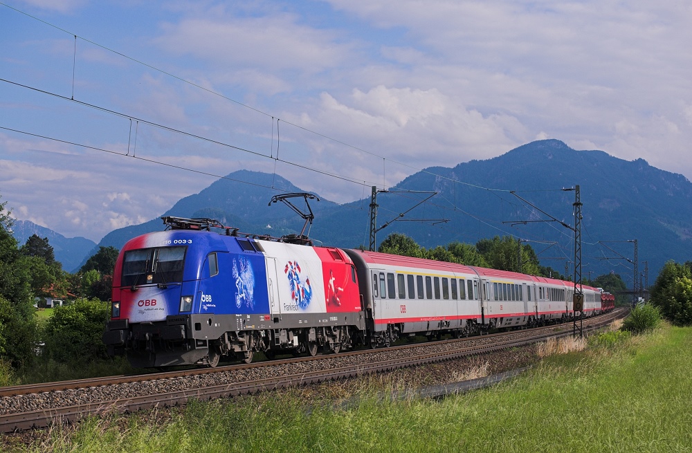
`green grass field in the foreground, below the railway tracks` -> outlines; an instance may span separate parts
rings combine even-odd
[[[93,418],[28,451],[689,452],[691,346],[692,329],[666,326],[443,400],[382,401],[364,386],[342,407],[293,389]],[[0,450],[11,445],[5,438]]]

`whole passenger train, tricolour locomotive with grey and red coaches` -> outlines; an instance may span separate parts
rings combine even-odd
[[[575,316],[570,281],[162,219],[165,231],[125,243],[113,271],[102,339],[134,367],[338,353]],[[582,291],[583,315],[613,308],[600,288]]]

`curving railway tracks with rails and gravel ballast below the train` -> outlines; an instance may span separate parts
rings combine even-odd
[[[607,315],[586,320],[585,331],[599,329],[625,313],[626,311],[616,310]],[[325,380],[353,378],[369,373],[443,362],[468,355],[492,353],[501,349],[533,344],[550,337],[567,335],[572,335],[571,324],[482,335],[461,340],[405,344],[372,351],[350,351],[338,355],[230,365],[215,369],[192,369],[6,387],[0,391],[0,396],[5,402],[9,402],[12,398],[17,398],[21,402],[24,398],[29,401],[36,400],[38,403],[35,404],[41,408],[19,409],[2,414],[0,432],[15,432],[45,427],[52,423],[73,422],[93,414],[135,412],[157,406],[183,405],[191,398],[210,400]],[[220,378],[221,376],[232,377],[230,380],[224,380]],[[190,388],[190,385],[186,385],[185,380],[190,379],[193,382],[199,381],[199,386]],[[159,383],[161,383],[160,386]],[[149,393],[145,391],[145,394],[132,395],[132,386],[150,386],[154,390]],[[71,400],[71,398],[61,398],[63,394],[80,394],[81,398],[82,394],[89,396],[92,393],[104,394],[104,396],[80,404],[53,404],[55,400],[58,402]],[[109,395],[111,398],[108,397]],[[43,406],[45,403],[41,403],[46,400],[50,403],[48,407]],[[28,404],[29,408],[30,404]]]

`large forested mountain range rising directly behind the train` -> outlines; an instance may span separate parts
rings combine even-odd
[[[300,188],[280,176],[246,170],[226,178],[181,199],[163,215],[212,213],[244,232],[274,236],[300,232],[303,221],[298,215],[283,205],[267,205],[278,192],[258,185],[289,192],[302,192]],[[638,241],[639,261],[648,261],[650,284],[666,260],[692,259],[690,181],[651,167],[643,159],[626,161],[603,151],[576,151],[559,140],[539,140],[488,160],[430,167],[409,176],[389,193],[378,194],[377,225],[392,223],[377,238],[382,241],[392,232],[402,232],[433,247],[513,234],[534,241],[531,246],[541,263],[562,272],[573,260],[574,232],[558,221],[574,224],[574,191],[561,189],[574,185],[580,186],[583,203],[585,277],[589,272],[599,275],[613,270],[631,285],[632,264],[627,260],[633,259],[633,244],[626,241],[633,239]],[[436,191],[437,195],[410,210],[427,195],[394,193],[404,190]],[[316,219],[310,236],[333,246],[367,247],[369,205],[370,197],[344,205],[312,201]],[[408,210],[401,220],[428,221],[394,221]],[[448,221],[441,223],[442,219]],[[131,237],[162,229],[160,219],[131,225],[107,234],[99,245],[120,248]],[[639,270],[643,268],[640,262]]]

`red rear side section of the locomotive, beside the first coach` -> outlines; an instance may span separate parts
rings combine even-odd
[[[327,313],[361,311],[358,277],[353,261],[338,248],[316,247],[322,261]]]

